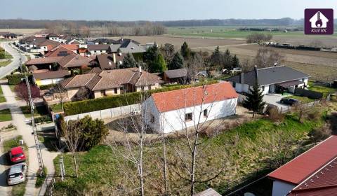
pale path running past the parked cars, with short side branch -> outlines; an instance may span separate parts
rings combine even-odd
[[[18,129],[18,134],[22,135],[22,139],[28,146],[28,175],[27,175],[27,186],[25,195],[37,195],[39,193],[39,188],[35,188],[36,172],[39,169],[39,163],[37,161],[37,148],[35,146],[34,136],[32,135],[32,126],[25,123],[25,116],[22,114],[18,106],[17,100],[15,100],[15,94],[11,91],[8,85],[1,85],[4,92],[4,97],[7,100],[9,109],[11,110],[13,124]],[[48,174],[54,174],[55,168],[53,165],[53,159],[58,155],[58,153],[49,152],[46,147],[42,144],[41,153],[44,159],[44,166],[47,167]]]

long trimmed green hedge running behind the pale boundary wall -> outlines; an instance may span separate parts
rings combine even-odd
[[[208,84],[218,83],[217,80],[211,80]],[[152,93],[166,92],[171,90],[179,90],[184,87],[200,86],[204,83],[198,83],[197,85],[178,85],[173,87],[162,87],[160,89],[149,90],[147,96],[150,97]],[[111,97],[102,97],[98,99],[88,99],[79,102],[67,102],[64,104],[63,109],[65,115],[75,115],[79,113],[87,113],[91,111],[100,111],[105,109],[116,108],[120,106],[127,106],[131,104],[138,104],[140,102],[141,92],[130,92],[126,94],[115,95]]]

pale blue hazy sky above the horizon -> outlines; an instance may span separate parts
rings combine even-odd
[[[0,0],[0,19],[199,20],[303,18],[305,8],[333,8],[336,0]]]

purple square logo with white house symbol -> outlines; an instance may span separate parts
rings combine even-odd
[[[333,9],[305,9],[305,34],[333,34]]]

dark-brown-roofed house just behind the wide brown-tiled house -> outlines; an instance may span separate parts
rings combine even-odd
[[[102,70],[117,69],[121,64],[126,54],[121,52],[112,54],[96,55],[95,59],[91,62],[92,66],[100,67]]]

